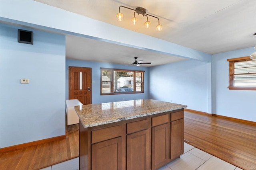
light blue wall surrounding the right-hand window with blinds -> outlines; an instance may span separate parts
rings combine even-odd
[[[250,47],[212,56],[212,113],[256,121],[256,90],[229,90],[227,61],[254,52]]]

